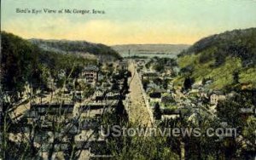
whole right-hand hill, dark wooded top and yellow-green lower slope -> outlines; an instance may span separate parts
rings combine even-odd
[[[225,31],[202,38],[178,55],[178,65],[183,75],[176,79],[182,84],[184,77],[196,82],[212,78],[212,89],[235,86],[234,75],[238,73],[239,84],[256,88],[256,28]]]

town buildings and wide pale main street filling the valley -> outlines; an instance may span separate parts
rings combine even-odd
[[[212,79],[192,83],[186,78],[178,86],[175,78],[180,74],[174,59],[135,57],[84,66],[78,78],[65,77],[68,74],[60,71],[58,77],[65,77],[61,88],[52,77],[48,77],[45,89],[36,92],[27,83],[20,101],[9,111],[15,125],[9,139],[19,143],[25,136],[32,140],[34,150],[40,148],[42,157],[64,158],[70,150],[76,154],[80,151],[82,159],[112,157],[108,137],[101,137],[98,129],[106,113],[118,112],[122,120],[127,117],[141,127],[162,126],[169,121],[196,126],[214,120],[218,102],[238,94],[209,89]],[[8,94],[3,100],[10,101]],[[250,115],[253,112],[244,113]],[[228,122],[218,125],[227,126]]]

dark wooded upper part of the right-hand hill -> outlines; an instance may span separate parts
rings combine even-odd
[[[225,31],[210,37],[202,38],[182,54],[207,54],[210,58],[236,56],[241,58],[243,65],[256,64],[256,28]]]

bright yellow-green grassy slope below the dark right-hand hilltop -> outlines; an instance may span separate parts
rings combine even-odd
[[[207,51],[204,51],[207,52]],[[210,52],[210,51],[209,51]],[[193,66],[194,71],[191,77],[195,78],[195,83],[202,80],[203,77],[212,77],[213,83],[210,89],[222,89],[224,86],[230,85],[233,82],[232,73],[235,70],[239,70],[240,83],[251,83],[253,88],[256,87],[256,68],[243,68],[241,66],[241,60],[236,57],[226,57],[225,63],[216,68],[210,67],[214,63],[214,60],[209,60],[207,63],[200,63],[199,57],[201,54],[190,54],[180,57],[178,59],[178,65],[183,68],[185,66]],[[182,85],[185,76],[179,76],[175,79],[176,85]]]

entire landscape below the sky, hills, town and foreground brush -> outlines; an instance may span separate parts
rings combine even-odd
[[[254,31],[224,32],[192,46],[113,49],[67,40],[27,41],[3,32],[1,122],[9,128],[2,136],[5,151],[14,152],[5,156],[15,157],[19,149],[24,157],[44,159],[134,152],[148,157],[144,151],[156,150],[159,154],[151,156],[229,158],[240,151],[239,157],[253,157],[256,39],[248,35]],[[226,43],[226,50],[218,43],[236,38],[243,43]],[[174,56],[158,56],[164,51]],[[228,142],[239,147],[230,151],[224,146]]]

